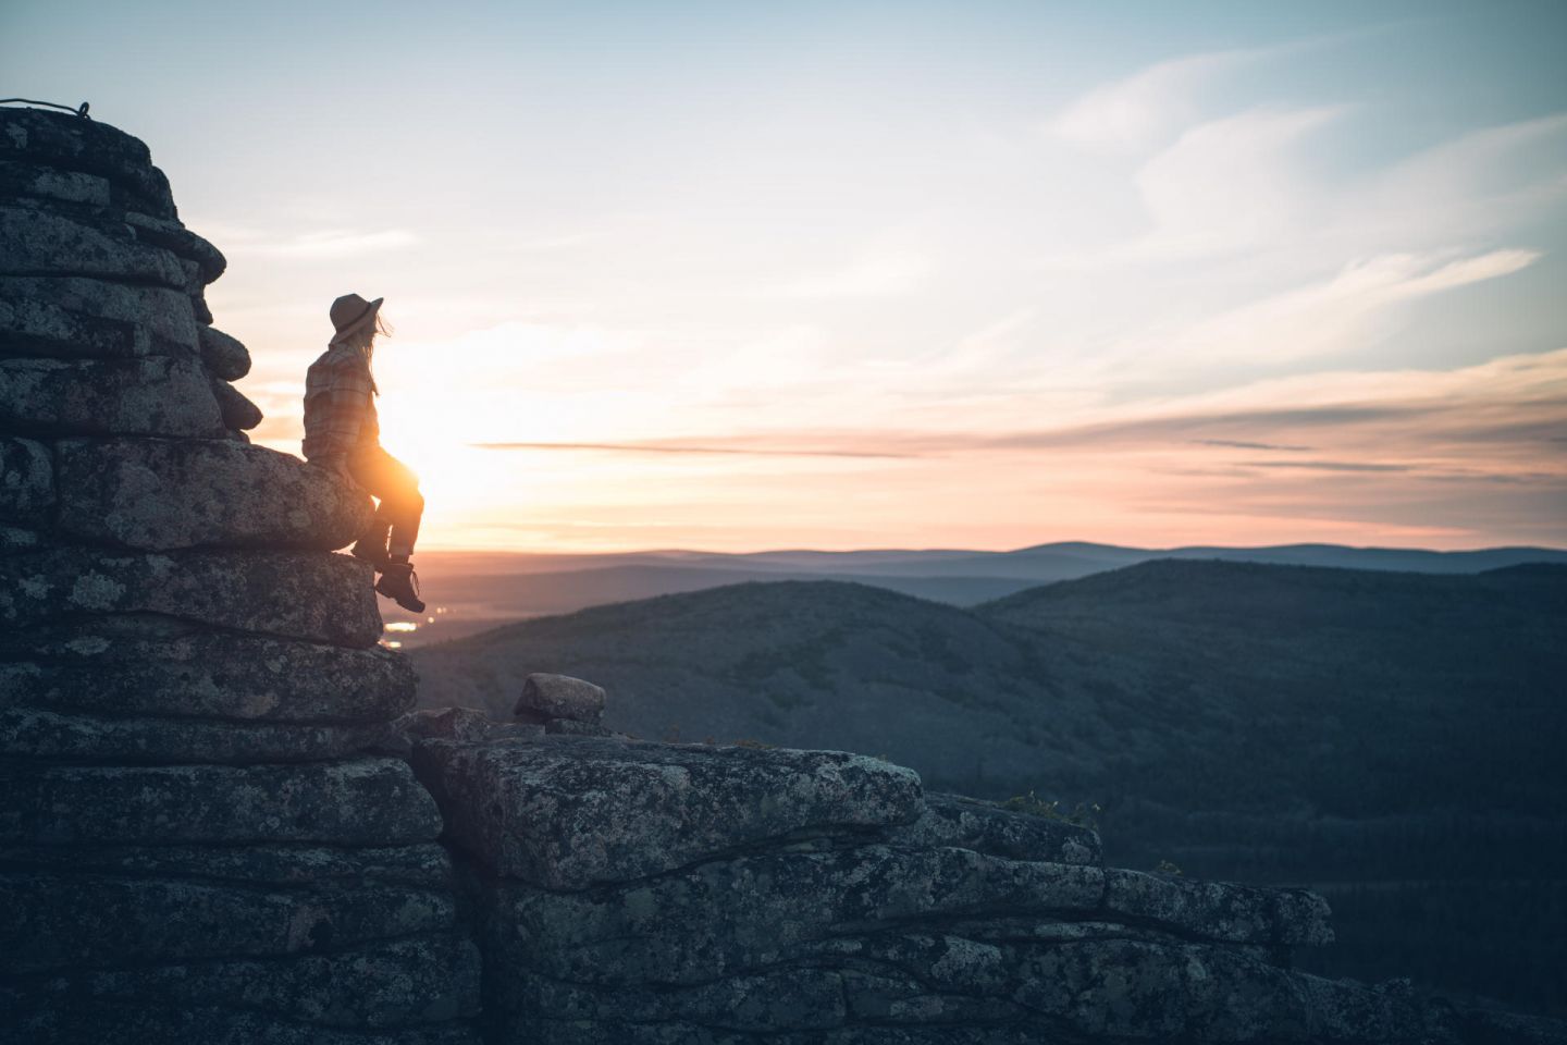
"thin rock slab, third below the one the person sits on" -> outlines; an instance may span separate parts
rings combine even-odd
[[[321,761],[384,750],[390,722],[302,725],[298,722],[208,722],[0,710],[0,757],[49,761],[255,765]]]

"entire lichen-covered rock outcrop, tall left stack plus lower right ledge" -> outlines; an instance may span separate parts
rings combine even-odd
[[[0,1040],[1567,1042],[878,758],[608,735],[559,675],[409,714],[221,271],[141,143],[0,110]]]

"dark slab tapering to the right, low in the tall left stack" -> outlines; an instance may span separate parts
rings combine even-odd
[[[241,888],[186,879],[0,871],[0,970],[301,954],[456,927],[456,901],[393,885]]]

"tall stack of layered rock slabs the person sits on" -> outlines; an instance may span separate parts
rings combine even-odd
[[[0,1039],[472,1042],[368,500],[248,445],[146,147],[0,108]]]

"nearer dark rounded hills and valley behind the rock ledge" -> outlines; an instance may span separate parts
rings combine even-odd
[[[1084,572],[1127,551],[1073,548]],[[506,716],[528,672],[558,671],[605,685],[610,724],[642,736],[884,754],[931,788],[1098,802],[1106,849],[1128,865],[1327,891],[1343,943],[1324,971],[1413,968],[1559,1006],[1567,566],[1462,575],[1525,553],[1269,551],[1446,572],[1192,553],[973,608],[860,583],[743,583],[414,656],[429,705]],[[857,562],[923,553],[885,555]],[[959,553],[932,555],[921,569],[975,575]]]

